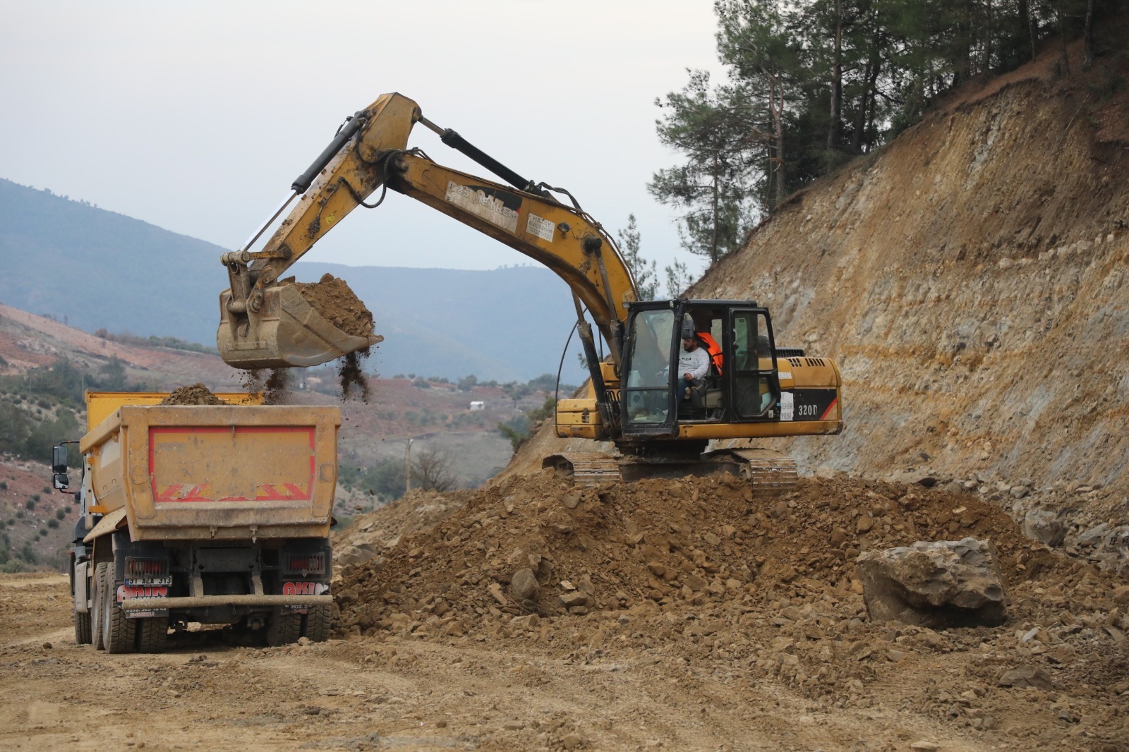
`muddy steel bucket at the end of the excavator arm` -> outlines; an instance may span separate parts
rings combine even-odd
[[[259,312],[228,311],[231,290],[219,296],[220,323],[216,346],[235,368],[317,366],[384,340],[379,334],[356,335],[322,316],[294,285],[268,287]]]

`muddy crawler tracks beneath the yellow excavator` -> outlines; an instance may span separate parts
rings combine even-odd
[[[694,460],[677,461],[618,457],[604,452],[563,452],[549,455],[541,466],[557,470],[577,486],[728,472],[747,479],[754,498],[787,493],[799,480],[795,460],[768,449],[717,449]]]

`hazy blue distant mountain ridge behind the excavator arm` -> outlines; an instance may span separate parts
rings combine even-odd
[[[0,180],[0,303],[72,326],[215,344],[225,250]],[[555,373],[574,321],[568,288],[541,268],[301,262],[291,271],[300,281],[324,272],[349,281],[385,336],[370,364],[390,376],[527,381]],[[576,364],[566,361],[572,382]]]

